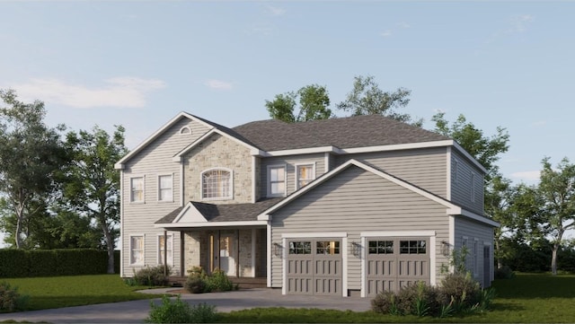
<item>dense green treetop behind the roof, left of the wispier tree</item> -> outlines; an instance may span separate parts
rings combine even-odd
[[[296,111],[296,100],[299,107]],[[306,85],[297,92],[276,95],[273,101],[266,101],[270,117],[287,123],[332,118],[330,97],[324,86]]]

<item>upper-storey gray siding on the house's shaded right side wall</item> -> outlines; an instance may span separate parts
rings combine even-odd
[[[473,201],[472,190],[475,193]],[[483,196],[483,172],[467,161],[463,155],[452,150],[451,201],[473,213],[483,215]]]

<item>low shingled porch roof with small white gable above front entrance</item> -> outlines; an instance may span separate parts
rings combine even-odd
[[[168,215],[157,220],[156,224],[179,223],[179,216],[187,206],[193,206],[199,215],[208,223],[212,222],[251,222],[257,221],[258,215],[283,198],[262,199],[256,203],[216,205],[190,201],[186,206],[178,207]]]

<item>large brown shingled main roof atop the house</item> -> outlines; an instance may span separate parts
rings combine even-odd
[[[381,115],[331,118],[299,123],[276,119],[253,121],[231,129],[246,142],[264,151],[336,146],[341,149],[434,142],[447,136],[414,127]]]

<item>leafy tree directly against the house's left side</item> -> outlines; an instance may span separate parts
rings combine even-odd
[[[114,273],[114,248],[119,232],[119,172],[114,169],[128,150],[124,145],[124,127],[117,126],[113,136],[99,127],[93,132],[70,132],[66,144],[73,155],[64,190],[66,206],[93,219],[102,230],[108,250],[108,273]]]

